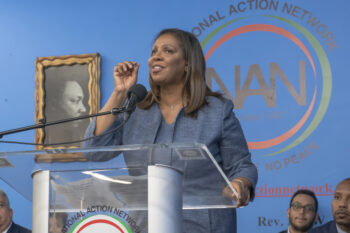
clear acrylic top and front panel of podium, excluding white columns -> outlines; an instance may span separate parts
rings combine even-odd
[[[57,154],[65,161],[55,161]],[[86,160],[76,161],[77,157]],[[1,158],[13,164],[6,168],[12,173],[17,165],[27,163],[28,177],[24,182],[33,171],[50,171],[50,227],[61,232],[74,232],[72,229],[100,223],[107,224],[107,228],[124,227],[125,232],[147,229],[148,167],[153,165],[181,174],[184,210],[235,207],[235,202],[226,197],[234,196],[235,190],[202,144],[7,152],[0,153]],[[199,175],[203,172],[198,173],[198,167],[207,175]],[[4,172],[0,175],[27,197],[32,193],[18,179]],[[230,190],[229,195],[223,195],[225,188]]]

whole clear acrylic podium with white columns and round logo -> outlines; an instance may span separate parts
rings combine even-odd
[[[47,159],[57,154],[68,162]],[[235,208],[227,196],[236,191],[203,144],[0,152],[0,166],[33,201],[33,233],[181,233],[183,211]]]

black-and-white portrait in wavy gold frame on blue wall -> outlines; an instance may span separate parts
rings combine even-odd
[[[35,122],[55,122],[97,113],[100,108],[100,63],[98,53],[38,57],[35,60]],[[36,149],[77,148],[92,119],[86,118],[36,130]],[[40,155],[38,162],[79,161],[77,155]]]

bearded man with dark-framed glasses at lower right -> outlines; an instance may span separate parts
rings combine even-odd
[[[289,227],[280,233],[307,233],[318,219],[317,209],[318,201],[312,191],[296,191],[287,209]]]

